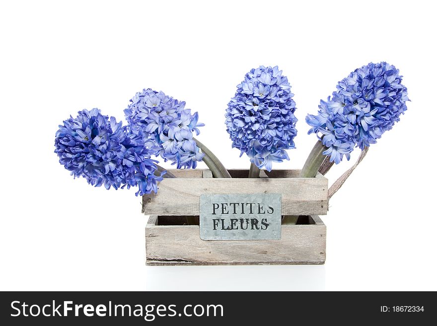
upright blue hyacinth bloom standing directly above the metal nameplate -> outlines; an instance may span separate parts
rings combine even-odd
[[[237,85],[225,113],[232,147],[250,158],[251,168],[272,170],[273,162],[289,160],[295,148],[296,103],[291,86],[278,66],[260,66],[246,73]]]

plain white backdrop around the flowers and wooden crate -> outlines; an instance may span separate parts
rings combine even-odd
[[[437,290],[430,3],[2,1],[1,290]],[[73,180],[53,152],[70,114],[98,107],[122,120],[151,87],[199,112],[199,139],[225,166],[248,168],[224,110],[250,68],[279,65],[299,122],[297,149],[274,168],[300,168],[316,139],[306,114],[379,61],[400,69],[412,102],[330,201],[322,266],[146,267],[136,190]]]

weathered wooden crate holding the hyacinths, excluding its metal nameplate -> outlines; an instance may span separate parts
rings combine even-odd
[[[146,225],[146,264],[322,264],[326,226],[317,216],[328,209],[328,180],[298,178],[299,170],[261,171],[248,179],[248,170],[229,170],[232,179],[212,178],[209,170],[169,170],[157,194],[143,196]],[[185,216],[199,215],[204,194],[282,194],[282,214],[301,215],[297,225],[282,225],[280,240],[202,240],[199,225],[184,225]]]

